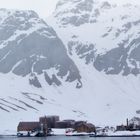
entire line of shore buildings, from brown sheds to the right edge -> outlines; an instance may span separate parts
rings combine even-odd
[[[140,118],[134,117],[126,120],[125,125],[114,127],[95,127],[92,123],[86,121],[75,121],[72,119],[60,120],[59,116],[43,116],[36,122],[19,122],[17,127],[18,136],[48,136],[52,135],[52,130],[66,130],[65,134],[71,133],[87,133],[94,135],[105,135],[108,131],[140,131]]]

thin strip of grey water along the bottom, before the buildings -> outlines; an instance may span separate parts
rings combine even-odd
[[[140,140],[140,138],[93,138],[93,137],[64,137],[54,136],[47,138],[17,138],[17,137],[4,137],[0,140]]]

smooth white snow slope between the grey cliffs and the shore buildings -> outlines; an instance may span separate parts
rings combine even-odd
[[[88,120],[97,126],[115,126],[137,115],[136,110],[140,109],[139,77],[107,76],[85,65],[76,55],[74,57],[82,75],[81,89],[76,89],[74,83],[49,86],[41,76],[39,80],[43,87],[37,89],[28,84],[27,77],[0,74],[0,99],[8,101],[0,100],[0,107],[10,111],[0,111],[1,133],[15,132],[19,121],[38,121],[44,115],[60,115],[61,120]],[[22,93],[30,93],[34,101]]]

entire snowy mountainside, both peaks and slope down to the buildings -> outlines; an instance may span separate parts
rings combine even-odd
[[[126,1],[60,0],[44,21],[0,9],[0,130],[47,114],[95,125],[139,116],[139,10]]]

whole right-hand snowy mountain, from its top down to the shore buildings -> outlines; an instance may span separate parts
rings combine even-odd
[[[60,0],[48,19],[80,71],[95,123],[139,115],[139,10],[130,0]]]

